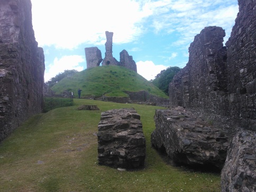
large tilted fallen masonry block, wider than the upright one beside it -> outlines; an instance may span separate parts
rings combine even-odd
[[[156,130],[151,143],[177,164],[221,169],[226,159],[228,138],[212,122],[204,121],[183,107],[156,110]]]

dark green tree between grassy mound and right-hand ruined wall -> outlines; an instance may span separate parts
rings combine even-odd
[[[161,89],[166,95],[169,95],[169,84],[179,71],[179,67],[168,67],[166,70],[162,70],[160,74],[152,80],[152,83]]]

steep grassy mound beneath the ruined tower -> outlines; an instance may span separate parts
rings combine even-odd
[[[95,95],[102,96],[111,87],[119,86],[120,89],[113,89],[107,96],[127,96],[123,90],[138,92],[147,90],[152,95],[168,98],[160,89],[144,79],[136,72],[119,66],[102,66],[86,69],[75,74],[73,77],[79,79],[62,79],[52,87],[57,94],[65,89],[72,90],[77,95],[77,89],[82,89],[81,96]],[[83,79],[83,80],[82,80]]]

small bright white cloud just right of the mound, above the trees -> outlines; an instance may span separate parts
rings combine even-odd
[[[166,69],[166,66],[155,65],[153,61],[139,61],[136,62],[137,72],[147,80],[154,79],[161,70]]]

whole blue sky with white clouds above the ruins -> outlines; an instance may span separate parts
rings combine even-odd
[[[183,68],[188,48],[205,26],[230,37],[237,0],[31,0],[35,39],[44,50],[44,81],[64,70],[86,69],[85,48],[105,57],[105,31],[113,32],[113,57],[126,50],[137,72],[154,79],[168,67]]]

